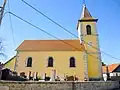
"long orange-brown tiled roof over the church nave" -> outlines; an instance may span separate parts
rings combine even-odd
[[[84,51],[79,40],[25,40],[17,51]]]

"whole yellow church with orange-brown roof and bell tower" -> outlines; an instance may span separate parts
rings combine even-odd
[[[58,76],[61,79],[75,76],[80,81],[101,80],[97,21],[83,5],[77,24],[78,39],[24,40],[16,49],[14,61],[11,59],[6,62],[5,67],[13,69],[18,75],[24,72],[26,76],[37,74],[40,77]]]

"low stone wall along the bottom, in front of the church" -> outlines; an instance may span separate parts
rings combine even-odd
[[[0,81],[0,90],[111,90],[119,82],[13,82]]]

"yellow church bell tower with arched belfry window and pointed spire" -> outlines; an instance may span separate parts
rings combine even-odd
[[[89,80],[102,78],[101,53],[97,33],[98,19],[92,17],[86,5],[83,5],[82,14],[78,20],[77,30],[81,43],[86,48],[85,71]]]

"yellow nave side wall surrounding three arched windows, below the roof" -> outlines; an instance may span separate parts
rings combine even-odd
[[[18,74],[25,72],[26,75],[29,71],[38,72],[39,76],[44,73],[51,77],[52,70],[56,70],[56,75],[61,78],[65,75],[76,75],[80,80],[84,80],[84,62],[83,52],[81,51],[44,51],[44,52],[19,52],[16,71]],[[32,67],[26,67],[26,60],[32,57]],[[54,59],[53,67],[48,67],[48,58],[52,56]],[[69,59],[74,56],[76,60],[76,67],[69,67]]]

